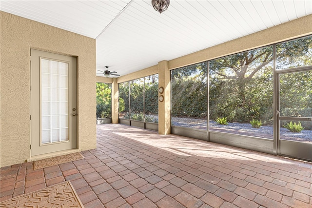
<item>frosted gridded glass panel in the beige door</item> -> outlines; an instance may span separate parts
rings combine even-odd
[[[41,59],[41,145],[68,141],[66,62]]]

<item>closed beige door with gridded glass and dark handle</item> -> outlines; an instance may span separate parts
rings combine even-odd
[[[31,156],[77,147],[76,58],[31,50]]]

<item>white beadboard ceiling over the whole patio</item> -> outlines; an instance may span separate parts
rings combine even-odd
[[[97,39],[97,69],[126,75],[312,14],[312,0],[1,0],[0,10]]]

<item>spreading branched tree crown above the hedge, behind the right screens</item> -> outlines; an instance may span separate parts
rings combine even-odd
[[[311,55],[312,36],[276,45],[277,68],[312,65]],[[224,79],[251,80],[272,61],[273,47],[263,47],[210,61],[209,72]]]

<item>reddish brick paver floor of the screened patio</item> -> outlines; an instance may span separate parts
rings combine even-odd
[[[0,168],[0,201],[70,180],[86,208],[311,208],[312,164],[126,125],[85,159]]]

